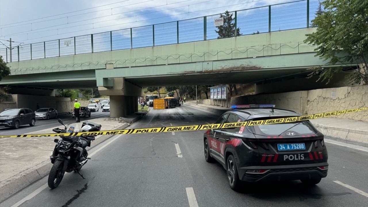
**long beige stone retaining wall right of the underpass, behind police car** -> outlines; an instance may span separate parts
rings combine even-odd
[[[231,105],[263,103],[274,103],[276,108],[290,109],[301,114],[367,107],[368,85],[250,95],[234,97],[230,101]],[[334,117],[368,122],[368,111]]]

